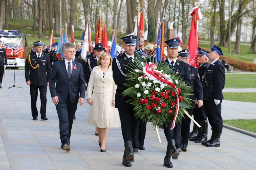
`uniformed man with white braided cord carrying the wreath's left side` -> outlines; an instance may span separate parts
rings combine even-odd
[[[144,60],[134,53],[137,36],[130,35],[121,39],[123,40],[124,53],[115,57],[112,64],[113,78],[117,85],[115,107],[119,111],[125,145],[122,163],[124,166],[132,166],[131,162],[134,161],[132,141],[136,130],[138,130],[139,120],[135,120],[134,107],[130,103],[126,103],[129,97],[123,96],[122,93],[127,89],[124,83],[127,83],[126,78],[129,74],[129,66],[133,64],[134,58],[141,61]]]

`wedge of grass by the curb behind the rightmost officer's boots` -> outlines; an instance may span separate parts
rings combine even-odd
[[[237,120],[223,120],[223,123],[256,133],[256,119],[237,119]]]

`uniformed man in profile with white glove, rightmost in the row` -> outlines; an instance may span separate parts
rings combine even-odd
[[[219,58],[223,55],[221,48],[214,45],[209,50],[209,60],[212,62],[202,78],[203,84],[203,110],[212,127],[212,137],[202,145],[207,147],[220,146],[220,136],[223,122],[221,117],[222,90],[225,85],[225,68]]]

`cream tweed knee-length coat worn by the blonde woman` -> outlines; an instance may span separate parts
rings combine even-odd
[[[87,123],[98,128],[118,128],[121,126],[117,108],[112,106],[117,86],[109,67],[104,78],[100,66],[93,68],[87,86],[86,99],[92,99]]]

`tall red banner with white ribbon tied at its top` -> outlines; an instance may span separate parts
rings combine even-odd
[[[199,37],[197,34],[197,20],[202,18],[200,8],[195,6],[193,7],[189,14],[192,16],[192,24],[188,38],[188,48],[190,54],[189,64],[195,67],[198,67],[197,64],[197,50],[199,45]]]

